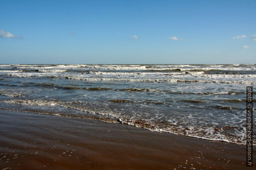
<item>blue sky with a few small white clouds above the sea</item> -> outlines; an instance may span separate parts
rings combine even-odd
[[[255,64],[256,0],[1,0],[1,64]]]

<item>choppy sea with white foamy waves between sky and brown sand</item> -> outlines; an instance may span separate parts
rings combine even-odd
[[[255,83],[256,64],[0,65],[0,109],[245,144]]]

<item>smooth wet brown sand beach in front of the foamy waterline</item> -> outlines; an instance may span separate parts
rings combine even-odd
[[[0,111],[0,154],[0,170],[253,169],[245,145],[28,112]]]

